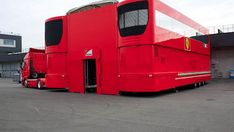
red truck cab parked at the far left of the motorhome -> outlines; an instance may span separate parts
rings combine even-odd
[[[24,87],[45,87],[46,57],[45,50],[30,48],[25,55],[21,68]]]

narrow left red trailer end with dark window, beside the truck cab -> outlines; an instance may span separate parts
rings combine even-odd
[[[67,88],[67,18],[53,17],[45,24],[46,87]]]

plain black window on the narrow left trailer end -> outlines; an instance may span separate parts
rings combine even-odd
[[[58,45],[63,35],[62,19],[48,21],[45,24],[46,46]]]

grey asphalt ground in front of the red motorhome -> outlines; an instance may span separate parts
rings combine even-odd
[[[0,132],[234,132],[234,80],[113,96],[22,88],[0,79]]]

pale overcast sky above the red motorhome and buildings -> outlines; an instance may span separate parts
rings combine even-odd
[[[19,33],[23,48],[44,45],[44,22],[96,0],[1,0],[0,31]],[[206,27],[234,24],[234,0],[162,0]]]

